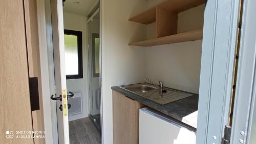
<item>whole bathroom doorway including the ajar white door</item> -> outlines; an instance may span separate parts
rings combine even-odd
[[[46,1],[54,143],[100,143],[99,1]]]

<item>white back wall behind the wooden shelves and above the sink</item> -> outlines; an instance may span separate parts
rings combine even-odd
[[[149,1],[148,7],[156,1]],[[204,5],[178,14],[178,33],[203,28]],[[155,23],[147,25],[147,38],[155,37]],[[166,87],[199,92],[202,40],[146,47],[146,78]]]

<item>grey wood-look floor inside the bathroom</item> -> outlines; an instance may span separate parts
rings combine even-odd
[[[100,133],[89,117],[69,122],[70,144],[100,144]]]

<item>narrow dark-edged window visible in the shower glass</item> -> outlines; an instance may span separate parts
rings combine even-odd
[[[93,77],[99,77],[99,34],[92,33]]]

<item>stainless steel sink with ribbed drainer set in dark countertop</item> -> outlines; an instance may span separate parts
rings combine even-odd
[[[167,87],[164,87],[164,91],[161,92],[159,88],[149,83],[123,85],[119,87],[162,105],[193,95],[191,93],[174,90]]]

